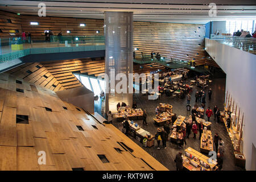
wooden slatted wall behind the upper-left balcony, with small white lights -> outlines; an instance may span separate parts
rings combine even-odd
[[[63,35],[104,35],[104,20],[101,19],[82,19],[82,18],[59,18],[59,17],[39,17],[39,16],[26,16],[16,15],[0,11],[0,36],[10,36],[10,30],[19,30],[16,35],[21,35],[22,31],[31,32],[32,38],[44,38],[44,31],[51,30],[54,35],[59,34],[60,31]],[[7,23],[8,19],[11,23]],[[38,26],[30,25],[30,22],[38,22]],[[85,27],[80,27],[80,23],[85,23]],[[71,34],[67,34],[67,30]],[[96,31],[100,33],[96,33]]]

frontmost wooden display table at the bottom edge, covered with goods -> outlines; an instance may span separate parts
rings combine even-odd
[[[211,163],[209,163],[207,156],[193,148],[188,147],[185,152],[185,155],[183,155],[183,167],[189,171],[216,171],[218,169],[217,162],[211,160]]]

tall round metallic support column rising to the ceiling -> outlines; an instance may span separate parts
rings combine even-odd
[[[109,76],[106,82],[106,112],[117,112],[117,104],[125,102],[130,107],[133,104],[133,94],[128,93],[129,73],[133,73],[133,12],[105,12],[105,73]],[[110,77],[110,71],[114,70],[115,76],[123,73],[127,78],[127,93],[117,93],[110,85],[118,81]],[[121,78],[122,80],[122,78]],[[133,81],[133,80],[132,80]],[[124,88],[122,88],[124,89]]]

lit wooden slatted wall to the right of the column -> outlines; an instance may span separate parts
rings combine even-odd
[[[200,61],[205,57],[204,24],[134,22],[134,48],[138,56],[159,52],[167,59]]]

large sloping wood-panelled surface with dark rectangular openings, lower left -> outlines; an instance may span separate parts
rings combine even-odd
[[[0,75],[0,118],[0,170],[167,170],[113,125],[7,73]],[[40,151],[46,164],[38,163]]]

